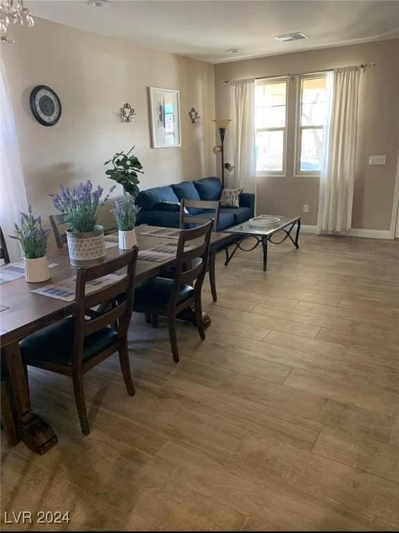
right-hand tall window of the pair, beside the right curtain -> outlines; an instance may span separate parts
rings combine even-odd
[[[296,174],[319,174],[323,151],[323,130],[327,111],[325,76],[300,76]]]

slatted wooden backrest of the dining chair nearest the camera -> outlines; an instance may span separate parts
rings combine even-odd
[[[117,329],[118,339],[126,341],[128,327],[133,311],[133,281],[137,263],[138,247],[120,255],[115,259],[94,267],[81,267],[76,276],[75,292],[75,344],[74,364],[82,362],[83,344],[87,335],[92,335],[108,325]],[[99,278],[109,274],[118,273],[120,269],[127,267],[127,272],[120,273],[120,279],[99,291],[85,294],[86,285],[95,284]],[[119,273],[118,273],[119,274]],[[109,303],[108,307],[106,304]],[[87,321],[87,310],[103,304],[103,312]]]

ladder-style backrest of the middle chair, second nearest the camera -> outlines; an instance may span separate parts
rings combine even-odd
[[[191,285],[196,280],[194,290],[196,294],[201,292],[207,270],[212,226],[213,221],[209,220],[198,228],[180,232],[176,253],[175,278],[169,305],[176,304],[179,287],[183,283]]]

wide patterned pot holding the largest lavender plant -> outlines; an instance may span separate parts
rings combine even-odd
[[[103,226],[94,231],[73,233],[67,230],[69,261],[76,267],[85,267],[105,261],[105,240]]]

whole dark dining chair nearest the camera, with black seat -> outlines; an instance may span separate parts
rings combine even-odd
[[[135,394],[128,355],[128,327],[133,311],[137,251],[135,247],[116,259],[78,269],[73,316],[49,325],[19,343],[25,365],[71,376],[80,426],[85,435],[90,428],[83,374],[118,352],[128,394]],[[85,295],[86,284],[93,285],[95,280],[126,267],[126,274],[117,278],[112,285]],[[103,311],[87,319],[87,312],[98,305]]]

